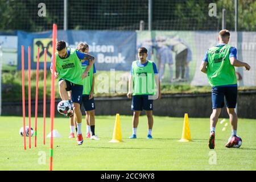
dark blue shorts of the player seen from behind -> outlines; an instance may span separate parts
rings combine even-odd
[[[237,86],[217,86],[212,88],[212,109],[224,107],[224,96],[226,107],[236,108]]]

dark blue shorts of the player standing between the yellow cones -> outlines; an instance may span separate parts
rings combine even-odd
[[[131,110],[153,110],[153,100],[148,99],[148,95],[133,96]]]

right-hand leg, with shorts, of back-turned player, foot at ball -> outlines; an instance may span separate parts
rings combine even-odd
[[[237,86],[227,86],[225,90],[226,97],[226,106],[229,114],[229,122],[232,128],[232,137],[236,137],[237,135],[237,113],[235,111],[237,104]],[[234,139],[231,139],[230,142],[226,143],[226,147],[233,147]]]

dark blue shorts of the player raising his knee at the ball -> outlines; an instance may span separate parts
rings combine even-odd
[[[64,78],[61,78],[59,81],[65,80]],[[84,86],[73,84],[72,82],[65,80],[67,84],[67,91],[71,91],[71,100],[72,102],[82,104],[82,90],[84,89]]]

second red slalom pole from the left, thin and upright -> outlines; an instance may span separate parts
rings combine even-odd
[[[31,148],[31,47],[28,46],[28,144]]]

